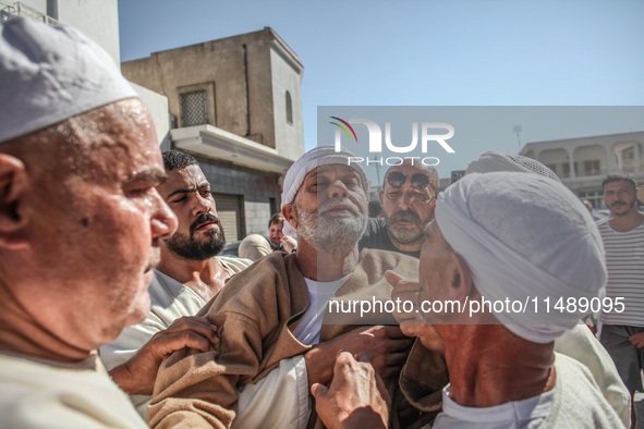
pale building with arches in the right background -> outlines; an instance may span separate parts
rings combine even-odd
[[[615,172],[631,173],[644,184],[644,132],[528,143],[520,155],[536,159],[596,209],[605,209],[602,181]]]

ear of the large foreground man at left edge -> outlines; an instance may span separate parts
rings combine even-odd
[[[17,248],[25,244],[22,232],[27,220],[22,209],[28,182],[23,161],[0,154],[0,247]]]

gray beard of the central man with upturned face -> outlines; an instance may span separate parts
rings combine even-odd
[[[343,204],[354,208],[355,218],[328,219],[325,211]],[[318,252],[351,250],[362,238],[367,228],[367,212],[361,211],[349,199],[332,200],[316,211],[295,209],[297,214],[297,240],[304,240]]]

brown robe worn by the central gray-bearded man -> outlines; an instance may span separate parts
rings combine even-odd
[[[414,278],[418,261],[400,254],[365,249],[353,275],[336,296],[362,290],[364,298],[390,299],[391,286],[382,275],[388,269]],[[161,365],[148,410],[150,427],[229,428],[234,418],[236,385],[255,383],[281,359],[311,348],[291,333],[307,305],[308,291],[295,255],[275,253],[235,275],[202,312],[220,327],[222,341],[217,350],[180,351]],[[370,324],[360,314],[354,323],[359,321]],[[325,324],[320,340],[352,328],[355,324]]]

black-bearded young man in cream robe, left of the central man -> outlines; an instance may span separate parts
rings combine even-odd
[[[216,256],[223,248],[226,236],[210,184],[197,160],[169,150],[163,152],[163,163],[168,180],[157,191],[177,214],[179,228],[174,235],[160,242],[161,261],[155,267],[148,287],[147,318],[125,328],[116,341],[100,348],[108,369],[130,359],[158,332],[171,326],[195,323],[185,317],[195,316],[231,277],[252,263],[248,259]],[[150,396],[131,399],[145,418]]]

